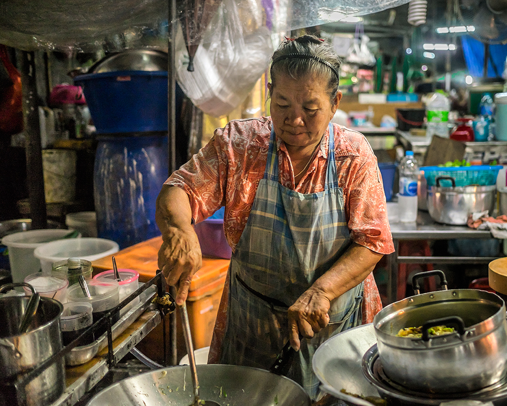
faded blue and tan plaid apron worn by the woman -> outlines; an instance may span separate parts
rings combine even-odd
[[[231,258],[227,324],[220,363],[269,369],[288,340],[287,309],[350,245],[329,125],[324,191],[303,194],[280,185],[274,130],[264,178]],[[301,341],[288,378],[319,397],[312,356],[332,335],[361,324],[364,283],[331,303],[330,323]]]

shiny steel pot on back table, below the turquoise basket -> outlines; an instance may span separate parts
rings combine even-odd
[[[441,180],[450,180],[451,187],[440,186]],[[428,191],[428,211],[439,223],[464,225],[468,216],[488,210],[491,214],[496,203],[496,186],[456,187],[453,178],[440,177]]]

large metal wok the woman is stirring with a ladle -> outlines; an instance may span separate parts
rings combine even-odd
[[[197,365],[199,394],[222,406],[309,406],[296,382],[267,370],[236,365]],[[95,395],[87,406],[190,406],[194,401],[188,365],[157,369],[124,379]]]

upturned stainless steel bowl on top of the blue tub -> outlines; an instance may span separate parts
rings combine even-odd
[[[156,49],[128,49],[95,62],[88,73],[167,71],[167,53]]]

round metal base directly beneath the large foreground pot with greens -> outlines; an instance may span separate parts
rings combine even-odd
[[[364,355],[363,374],[366,379],[378,390],[380,396],[393,405],[440,405],[445,401],[466,399],[479,400],[482,402],[491,401],[495,406],[507,405],[507,380],[486,388],[472,392],[458,393],[427,393],[414,391],[389,379],[382,368],[379,358],[377,344],[373,345]]]

